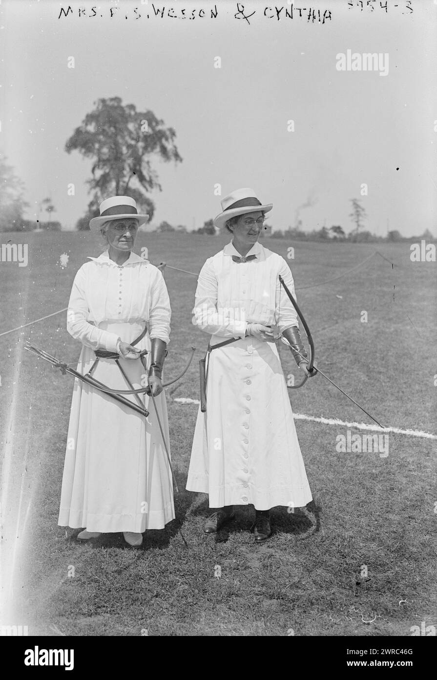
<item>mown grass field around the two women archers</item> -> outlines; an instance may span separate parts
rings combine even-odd
[[[100,252],[90,233],[7,239],[27,239],[29,266],[0,262],[0,333],[67,307],[75,272]],[[136,252],[147,245],[152,262],[198,272],[226,240],[140,234]],[[296,249],[288,261],[320,368],[384,425],[436,434],[436,264],[411,262],[407,243],[263,243],[284,257]],[[323,283],[375,250],[394,267],[375,254]],[[5,623],[28,625],[29,634],[129,636],[408,636],[422,621],[437,626],[435,440],[391,432],[385,458],[338,453],[347,427],[297,420],[314,501],[305,511],[274,509],[277,533],[263,546],[253,545],[247,507],[227,530],[203,534],[206,500],[185,491],[197,406],[174,398],[199,398],[207,337],[191,324],[195,277],[164,275],[172,303],[166,378],[180,371],[190,345],[198,351],[167,389],[176,520],[147,532],[140,549],[121,534],[82,545],[77,530],[57,526],[73,378],[23,346],[31,339],[74,362],[80,347],[65,330],[66,314],[0,337],[5,595],[14,568],[14,619]],[[282,360],[292,371],[285,348]],[[296,413],[371,424],[320,375],[290,398]]]

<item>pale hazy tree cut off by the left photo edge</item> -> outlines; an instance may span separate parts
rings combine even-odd
[[[0,156],[0,231],[21,231],[26,220],[23,211],[29,205],[24,201],[24,184],[14,174],[6,158]]]

